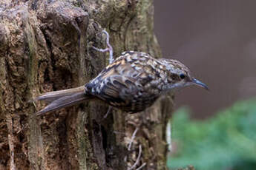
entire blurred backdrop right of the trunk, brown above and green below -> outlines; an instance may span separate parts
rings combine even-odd
[[[256,170],[255,7],[253,0],[154,1],[163,57],[182,61],[211,89],[175,95],[170,169]]]

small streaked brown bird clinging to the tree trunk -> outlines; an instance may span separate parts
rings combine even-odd
[[[33,101],[50,102],[36,115],[92,99],[135,113],[151,106],[165,92],[192,84],[208,89],[206,84],[193,78],[188,67],[179,61],[156,59],[145,52],[128,51],[122,52],[85,86],[47,92]]]

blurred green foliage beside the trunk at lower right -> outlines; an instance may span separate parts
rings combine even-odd
[[[174,113],[171,124],[175,147],[168,158],[170,169],[256,169],[256,100],[235,103],[201,121],[189,119],[183,108]]]

